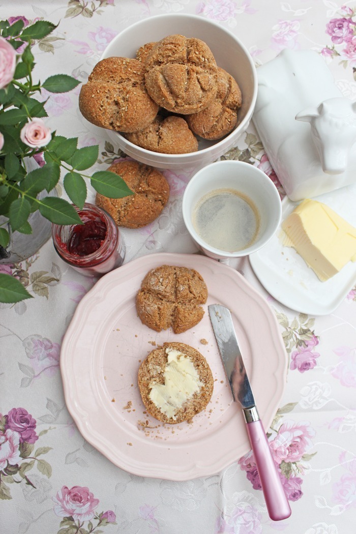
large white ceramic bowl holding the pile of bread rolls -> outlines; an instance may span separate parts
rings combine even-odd
[[[231,32],[217,23],[196,15],[157,15],[136,22],[114,37],[101,59],[118,56],[135,58],[136,51],[145,43],[160,41],[173,34],[196,37],[208,44],[217,65],[224,68],[238,82],[242,93],[239,124],[225,138],[211,142],[201,140],[199,150],[188,154],[160,154],[145,150],[126,140],[120,133],[107,130],[115,145],[131,158],[160,169],[201,168],[216,161],[230,148],[247,129],[254,112],[257,98],[257,74],[254,62],[244,45]]]

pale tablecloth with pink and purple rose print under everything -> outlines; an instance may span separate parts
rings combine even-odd
[[[320,53],[345,96],[356,98],[356,1],[295,0],[9,0],[1,17],[57,26],[33,43],[41,78],[57,72],[85,82],[112,38],[156,14],[192,13],[238,35],[256,65],[282,49]],[[60,135],[98,143],[96,167],[124,155],[105,131],[78,111],[78,92],[51,95],[46,123]],[[42,93],[42,98],[49,95]],[[248,161],[278,184],[253,125],[226,158]],[[192,173],[194,169],[192,170]],[[141,230],[123,230],[128,263],[156,252],[196,253],[181,217],[191,174],[164,171],[170,200]],[[62,192],[65,195],[64,192]],[[90,190],[88,201],[93,201]],[[308,316],[268,295],[248,260],[243,276],[268,300],[286,344],[288,376],[267,429],[291,504],[288,520],[266,512],[256,466],[247,454],[221,473],[175,482],[132,475],[82,437],[62,390],[60,348],[77,304],[93,281],[68,268],[52,241],[21,264],[0,271],[34,296],[0,305],[0,531],[4,534],[122,532],[178,534],[351,534],[356,519],[356,288],[330,315]]]

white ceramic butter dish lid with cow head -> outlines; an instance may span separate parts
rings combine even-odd
[[[283,50],[257,76],[252,121],[288,197],[356,182],[356,103],[343,97],[325,60],[312,50]]]

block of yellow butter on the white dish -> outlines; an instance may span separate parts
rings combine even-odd
[[[305,199],[283,221],[283,245],[294,247],[321,281],[356,261],[356,228],[326,204]]]

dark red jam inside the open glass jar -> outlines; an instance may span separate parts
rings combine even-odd
[[[104,221],[87,221],[74,226],[68,240],[68,251],[78,256],[88,256],[101,247],[106,237],[107,226]]]

